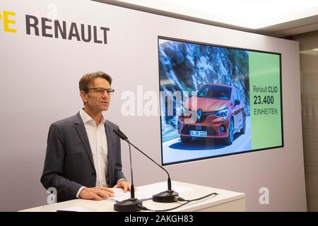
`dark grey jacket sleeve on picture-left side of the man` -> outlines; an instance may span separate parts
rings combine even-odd
[[[64,141],[61,129],[57,124],[49,127],[47,138],[47,152],[41,183],[45,189],[57,189],[57,201],[76,198],[76,194],[83,185],[72,182],[63,177],[64,173]]]

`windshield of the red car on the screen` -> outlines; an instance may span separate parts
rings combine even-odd
[[[230,100],[231,88],[219,85],[205,85],[199,90],[197,97]]]

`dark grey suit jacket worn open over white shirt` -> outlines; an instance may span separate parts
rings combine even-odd
[[[108,186],[114,186],[122,173],[120,139],[113,129],[116,124],[105,121],[108,152]],[[81,186],[93,187],[96,170],[90,143],[79,112],[73,117],[57,121],[49,127],[47,153],[41,183],[57,189],[57,201],[76,198]]]

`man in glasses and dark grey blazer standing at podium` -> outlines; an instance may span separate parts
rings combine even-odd
[[[80,82],[84,108],[49,127],[41,183],[57,189],[57,201],[73,198],[102,200],[113,196],[110,187],[128,191],[122,173],[116,124],[102,112],[110,105],[112,78],[102,71],[87,73]]]

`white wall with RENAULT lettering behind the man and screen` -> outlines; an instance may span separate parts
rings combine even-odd
[[[25,14],[110,28],[108,44],[25,35]],[[284,148],[216,157],[165,167],[172,179],[245,192],[247,210],[306,210],[300,114],[298,43],[263,35],[191,23],[91,1],[4,0],[1,11],[16,12],[17,33],[4,32],[0,20],[0,210],[45,205],[40,184],[49,124],[82,107],[78,80],[105,71],[114,78],[111,107],[105,116],[130,140],[160,159],[160,118],[123,117],[121,93],[137,85],[158,92],[158,35],[196,42],[282,54]],[[129,177],[128,148],[122,143],[124,173]],[[136,186],[163,181],[165,173],[134,153]],[[259,189],[270,191],[269,205],[259,204]]]

